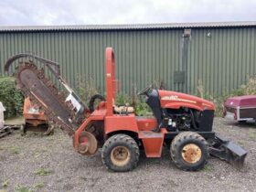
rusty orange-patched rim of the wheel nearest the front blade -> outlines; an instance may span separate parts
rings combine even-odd
[[[182,148],[182,158],[189,164],[197,163],[202,157],[202,151],[197,144],[186,144]]]

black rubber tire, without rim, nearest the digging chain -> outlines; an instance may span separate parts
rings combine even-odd
[[[126,165],[119,166],[114,165],[111,159],[112,149],[117,146],[124,146],[130,152],[130,160]],[[107,166],[108,169],[114,172],[126,172],[131,171],[133,168],[137,166],[139,161],[140,151],[138,144],[133,140],[133,138],[127,134],[119,133],[112,135],[105,144],[103,144],[101,151],[101,158],[104,165]]]

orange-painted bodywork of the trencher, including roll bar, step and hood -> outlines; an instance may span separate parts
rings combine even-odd
[[[80,133],[93,121],[104,121],[104,136],[107,138],[110,133],[121,133],[129,131],[136,133],[144,144],[144,151],[147,157],[160,157],[165,139],[165,128],[161,129],[161,133],[154,133],[153,130],[157,126],[155,117],[144,118],[136,117],[134,113],[115,114],[113,112],[113,104],[116,94],[115,80],[115,59],[112,48],[106,48],[106,101],[101,101],[98,107],[89,117],[80,125],[80,128],[74,135],[74,148],[78,150]],[[178,109],[180,107],[188,107],[197,109],[198,111],[214,110],[214,104],[195,96],[187,95],[176,91],[159,90],[161,107],[166,109]]]

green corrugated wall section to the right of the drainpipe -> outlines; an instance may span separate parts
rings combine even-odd
[[[255,74],[255,28],[192,29],[188,92],[203,80],[210,94],[237,89]]]

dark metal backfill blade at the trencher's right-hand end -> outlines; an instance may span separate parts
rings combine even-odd
[[[229,164],[241,169],[244,165],[244,160],[247,151],[220,136],[215,137],[209,142],[209,154],[227,161]]]

